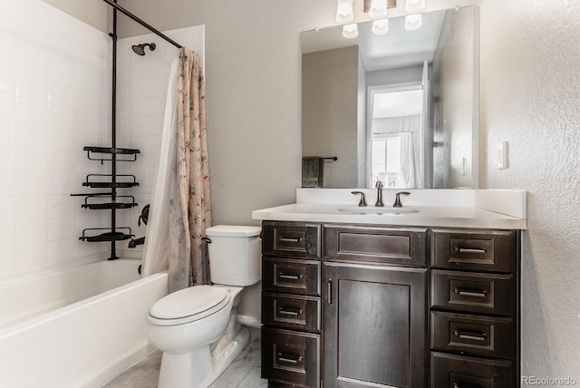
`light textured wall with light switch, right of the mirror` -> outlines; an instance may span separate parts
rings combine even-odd
[[[580,381],[579,20],[576,0],[481,2],[481,186],[529,192],[522,373]]]

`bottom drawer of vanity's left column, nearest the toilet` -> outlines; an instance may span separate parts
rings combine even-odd
[[[262,327],[262,377],[319,387],[320,335]]]

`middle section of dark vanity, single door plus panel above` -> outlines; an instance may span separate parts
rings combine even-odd
[[[427,229],[323,230],[324,387],[426,387]]]

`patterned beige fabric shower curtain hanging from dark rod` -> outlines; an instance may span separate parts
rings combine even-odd
[[[209,283],[211,226],[206,94],[198,53],[179,53],[175,179],[169,189],[169,293]]]

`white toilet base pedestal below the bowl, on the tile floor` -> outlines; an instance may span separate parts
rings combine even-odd
[[[250,341],[247,328],[236,338],[222,335],[216,343],[186,354],[163,353],[158,388],[207,388],[240,354]]]

